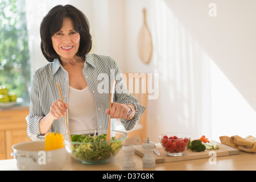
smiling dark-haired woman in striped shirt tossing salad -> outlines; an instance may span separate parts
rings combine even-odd
[[[55,6],[40,26],[41,49],[50,62],[33,76],[27,134],[42,140],[48,132],[107,130],[109,116],[120,118],[126,130],[133,129],[145,107],[130,96],[117,63],[109,56],[89,53],[92,38],[86,16],[71,5]],[[115,79],[112,109],[110,82]],[[64,103],[56,83],[60,83]]]

